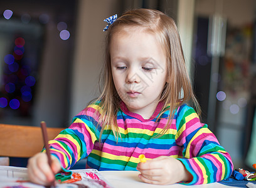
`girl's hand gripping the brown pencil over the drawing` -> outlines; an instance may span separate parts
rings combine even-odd
[[[55,174],[60,170],[60,162],[53,155],[51,155],[51,167],[45,153],[36,154],[28,160],[28,177],[35,184],[51,185],[55,180]]]

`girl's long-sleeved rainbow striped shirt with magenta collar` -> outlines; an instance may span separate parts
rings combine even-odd
[[[88,157],[88,167],[98,170],[136,170],[140,154],[147,159],[166,155],[183,162],[193,175],[188,184],[206,184],[229,177],[233,170],[230,155],[188,105],[178,108],[163,136],[155,137],[168,121],[169,111],[166,111],[156,123],[162,106],[159,103],[152,117],[145,120],[129,112],[121,102],[117,113],[118,142],[106,127],[100,144],[101,127],[97,127],[97,120],[101,109],[98,103],[93,103],[73,118],[69,128],[50,140],[51,154],[58,157],[66,169]]]

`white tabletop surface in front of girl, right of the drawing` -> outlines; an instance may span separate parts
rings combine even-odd
[[[196,188],[231,188],[231,186],[212,183],[212,184],[203,184],[203,185],[182,185],[182,184],[173,184],[173,185],[152,185],[146,184],[139,179],[137,171],[100,171],[105,179],[107,179],[111,185],[116,188],[180,188],[180,187],[196,187]]]

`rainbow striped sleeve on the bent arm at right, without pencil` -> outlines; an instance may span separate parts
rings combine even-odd
[[[195,110],[183,105],[177,115],[176,144],[183,147],[183,162],[193,175],[188,184],[207,184],[228,178],[233,170],[230,155],[215,135],[200,123]]]

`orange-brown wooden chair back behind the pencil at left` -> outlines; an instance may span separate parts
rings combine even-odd
[[[52,140],[64,128],[47,128]],[[0,156],[32,157],[43,149],[41,127],[0,124]]]

